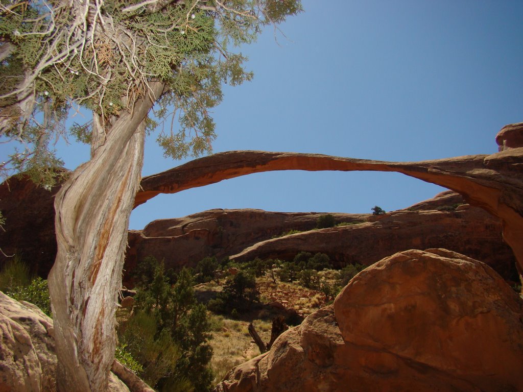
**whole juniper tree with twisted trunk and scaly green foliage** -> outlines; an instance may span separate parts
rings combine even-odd
[[[57,135],[91,147],[55,198],[59,391],[106,390],[126,230],[154,119],[179,118],[158,136],[166,156],[209,151],[209,108],[222,84],[252,78],[231,48],[300,10],[299,0],[0,0],[0,136],[18,143],[0,171],[28,171],[49,186],[61,165]],[[92,120],[66,130],[78,108]]]

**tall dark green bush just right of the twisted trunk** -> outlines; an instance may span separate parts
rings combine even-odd
[[[148,262],[154,266],[154,259],[149,258]],[[147,344],[152,347],[157,345],[158,349],[162,345],[172,347],[168,358],[160,364],[163,369],[161,372],[152,367],[149,371],[147,363],[152,366],[154,361],[146,358],[140,360],[139,356],[135,356],[137,353],[131,351],[134,358],[144,365],[144,373],[150,372],[146,377],[153,379],[152,385],[159,390],[206,391],[210,388],[212,374],[209,362],[212,349],[208,340],[211,337],[211,326],[206,307],[196,302],[193,285],[194,280],[188,269],[181,270],[171,283],[164,274],[163,262],[156,262],[152,278],[142,281],[135,296],[135,308],[144,326],[147,327],[147,322],[151,320],[154,325],[154,328],[150,324],[147,327],[149,333],[140,332],[152,336]],[[132,329],[127,328],[130,330],[128,333],[132,333],[132,339],[139,340],[139,337],[134,337]],[[134,349],[132,342],[125,343]]]

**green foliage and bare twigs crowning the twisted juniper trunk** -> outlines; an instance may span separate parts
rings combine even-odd
[[[151,80],[166,85],[155,118],[179,120],[179,129],[169,125],[157,137],[165,155],[209,152],[215,139],[209,109],[222,101],[222,85],[253,77],[244,68],[247,59],[230,48],[302,10],[299,0],[106,0],[89,3],[91,29],[79,21],[84,10],[77,2],[1,4],[0,135],[22,148],[0,172],[29,170],[39,181],[49,180],[49,167],[63,164],[49,142],[67,133],[73,106],[106,121],[148,94]],[[147,122],[148,130],[155,126]],[[92,123],[74,124],[69,132],[88,143]]]

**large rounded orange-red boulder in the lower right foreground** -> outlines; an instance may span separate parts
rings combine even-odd
[[[479,261],[445,249],[396,253],[215,391],[523,390],[522,312]]]

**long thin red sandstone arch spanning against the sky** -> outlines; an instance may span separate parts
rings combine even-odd
[[[320,154],[232,151],[192,160],[144,177],[134,206],[160,193],[176,193],[225,179],[274,170],[394,171],[463,195],[470,204],[499,217],[503,236],[523,271],[523,147],[492,155],[420,162],[384,162]]]

